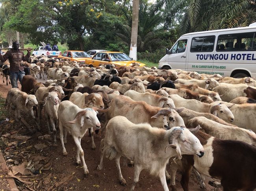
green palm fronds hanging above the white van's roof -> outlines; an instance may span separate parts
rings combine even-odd
[[[163,7],[167,16],[183,14],[179,25],[180,35],[244,27],[256,22],[255,0],[158,0],[155,11]],[[165,22],[168,24],[168,17],[165,17]]]

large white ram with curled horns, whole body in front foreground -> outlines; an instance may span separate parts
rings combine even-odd
[[[198,126],[191,130],[193,132],[182,127],[173,127],[165,131],[151,127],[149,124],[134,124],[124,116],[116,116],[107,125],[97,169],[102,169],[104,156],[109,160],[115,158],[119,181],[122,185],[126,185],[119,163],[120,157],[124,156],[134,161],[134,182],[131,191],[139,181],[139,174],[143,169],[149,171],[151,175],[158,176],[164,191],[169,191],[165,179],[165,167],[169,158],[178,156],[181,159],[184,154],[199,157],[204,155],[200,141],[192,134],[199,128]],[[169,147],[171,149],[168,149]]]

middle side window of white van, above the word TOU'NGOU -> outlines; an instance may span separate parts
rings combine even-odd
[[[215,36],[200,36],[192,38],[190,52],[212,52]]]

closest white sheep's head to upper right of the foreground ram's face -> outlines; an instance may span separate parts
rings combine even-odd
[[[233,105],[227,107],[225,104],[219,103],[217,105],[214,105],[211,107],[211,114],[226,120],[228,122],[234,121],[234,115],[230,111],[229,108],[231,108]]]

